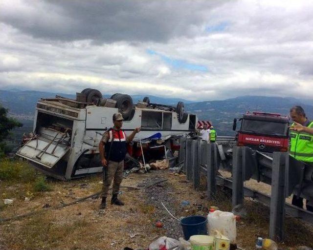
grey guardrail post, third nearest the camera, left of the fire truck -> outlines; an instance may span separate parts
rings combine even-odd
[[[216,155],[217,147],[215,143],[207,144],[207,197],[212,198],[216,194]]]

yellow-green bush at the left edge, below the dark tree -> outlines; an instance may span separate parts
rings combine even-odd
[[[0,159],[0,180],[21,181],[23,183],[36,179],[35,169],[19,160]]]

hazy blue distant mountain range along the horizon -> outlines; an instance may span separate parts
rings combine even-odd
[[[33,119],[36,102],[40,98],[53,98],[58,94],[60,96],[74,98],[75,95],[63,93],[48,93],[40,91],[21,91],[0,90],[0,104],[9,109],[12,116],[19,120],[27,121]],[[105,95],[110,97],[111,95]],[[185,109],[188,112],[198,115],[199,120],[208,120],[216,127],[220,135],[232,135],[232,123],[234,118],[240,118],[242,114],[249,111],[275,112],[288,115],[291,106],[302,105],[307,116],[313,119],[313,105],[311,100],[298,100],[295,98],[265,97],[265,96],[241,96],[237,98],[226,99],[223,101],[206,101],[192,103],[188,100],[179,98],[163,98],[149,96],[151,103],[173,104],[179,101],[184,102]],[[143,99],[143,95],[133,95],[134,103]],[[313,102],[312,102],[313,103]]]

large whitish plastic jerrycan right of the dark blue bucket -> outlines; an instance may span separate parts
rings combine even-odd
[[[231,244],[236,244],[236,217],[231,212],[216,210],[207,216],[207,231],[214,236],[215,230],[226,236]]]

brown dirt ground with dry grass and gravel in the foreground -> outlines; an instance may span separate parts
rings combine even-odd
[[[207,215],[210,206],[231,210],[229,190],[219,188],[216,198],[208,200],[204,191],[205,180],[201,180],[201,190],[195,190],[183,174],[178,175],[169,170],[132,173],[123,180],[122,186],[146,187],[163,179],[168,180],[147,189],[122,188],[120,197],[125,206],[109,204],[104,212],[99,210],[100,198],[89,198],[59,208],[62,203],[73,202],[100,191],[101,176],[51,182],[52,191],[37,194],[29,202],[25,202],[24,197],[19,195],[24,188],[21,185],[7,186],[0,183],[0,193],[9,193],[14,198],[13,205],[1,205],[0,218],[39,211],[32,216],[0,223],[0,249],[147,249],[160,236],[177,239],[182,236],[179,221],[167,213],[161,202],[178,218],[194,214]],[[182,206],[182,201],[189,201],[190,204]],[[250,200],[245,201],[245,207],[248,216],[237,223],[237,245],[251,250],[258,236],[268,236],[269,210]],[[156,228],[158,220],[163,223],[163,228]],[[313,247],[312,228],[299,220],[286,218],[286,236],[287,240],[280,243],[281,249],[294,250],[301,245]]]

